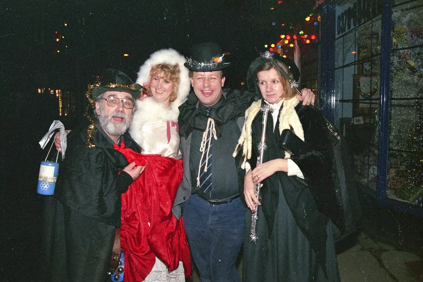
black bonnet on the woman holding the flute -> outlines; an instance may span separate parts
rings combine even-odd
[[[292,79],[294,79],[295,81],[298,82],[299,77],[300,77],[300,72],[299,69],[297,67],[297,65],[294,63],[294,61],[288,59],[288,58],[283,58],[282,56],[276,54],[273,57],[276,61],[280,61],[282,64],[286,65],[288,67],[288,69],[291,71],[292,73]],[[250,67],[248,68],[248,72],[247,72],[247,87],[250,91],[258,91],[258,86],[257,86],[257,69],[259,66],[261,66],[261,64],[263,64],[266,60],[266,58],[263,58],[263,56],[260,56],[258,58],[256,58],[253,63],[251,63]]]

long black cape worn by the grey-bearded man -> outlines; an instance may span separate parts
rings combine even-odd
[[[97,130],[87,148],[87,126],[72,130],[60,163],[54,196],[44,197],[44,260],[47,281],[104,281],[120,226],[121,193],[132,182],[119,171],[128,165]],[[129,133],[126,147],[140,152]],[[129,178],[128,178],[129,177]]]

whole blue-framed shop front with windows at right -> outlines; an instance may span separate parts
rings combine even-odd
[[[423,0],[319,6],[318,106],[348,144],[354,182],[423,216]]]

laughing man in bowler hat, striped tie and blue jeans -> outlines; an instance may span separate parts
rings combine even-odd
[[[190,249],[201,282],[241,281],[236,259],[244,236],[246,207],[242,202],[245,170],[232,158],[244,112],[254,94],[222,89],[228,53],[218,44],[201,43],[185,63],[193,91],[180,106],[180,148],[184,178],[173,213],[184,215]],[[314,94],[303,89],[304,103]],[[299,99],[303,100],[302,97]]]

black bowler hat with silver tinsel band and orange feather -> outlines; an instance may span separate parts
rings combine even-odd
[[[184,64],[188,69],[196,72],[210,72],[225,69],[231,63],[229,53],[223,53],[222,48],[216,43],[204,42],[195,44],[191,57]]]

